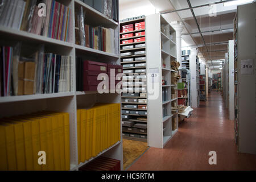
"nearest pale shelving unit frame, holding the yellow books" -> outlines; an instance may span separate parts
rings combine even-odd
[[[71,56],[71,92],[51,93],[51,94],[34,94],[26,96],[10,96],[0,97],[0,116],[10,117],[13,115],[34,113],[36,111],[51,110],[69,113],[70,128],[70,170],[78,170],[79,167],[97,158],[98,156],[106,156],[109,158],[120,160],[122,169],[122,135],[121,140],[113,144],[113,146],[101,151],[94,158],[84,163],[78,164],[77,149],[77,107],[90,106],[96,102],[119,103],[121,104],[121,94],[98,94],[97,92],[76,92],[76,56],[94,59],[94,61],[104,61],[104,63],[114,62],[120,64],[119,53],[108,53],[96,49],[82,47],[75,44],[75,11],[80,7],[86,10],[85,22],[92,26],[104,26],[119,31],[119,24],[113,19],[93,9],[79,0],[59,0],[57,2],[68,6],[71,9],[70,32],[71,38],[69,42],[47,38],[41,35],[31,34],[25,31],[13,30],[11,28],[0,26],[0,37],[3,45],[12,45],[13,42],[22,42],[23,45],[38,46],[44,44],[45,52],[58,53],[61,55]],[[118,41],[118,38],[116,38]],[[118,45],[119,52],[119,45]],[[121,113],[120,113],[121,117]],[[120,121],[121,128],[121,121]],[[122,129],[120,131],[122,133]]]

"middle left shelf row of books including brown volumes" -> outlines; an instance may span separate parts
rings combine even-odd
[[[44,53],[40,48],[32,56],[22,57],[6,46],[0,53],[1,96],[71,91],[71,56]]]

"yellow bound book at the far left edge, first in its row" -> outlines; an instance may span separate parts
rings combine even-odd
[[[0,125],[0,171],[8,170],[5,126]]]

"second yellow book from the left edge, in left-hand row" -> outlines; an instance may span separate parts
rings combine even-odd
[[[1,122],[0,125],[5,128],[8,170],[16,171],[17,163],[15,152],[14,126],[4,122]]]

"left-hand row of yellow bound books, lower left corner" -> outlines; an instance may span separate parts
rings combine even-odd
[[[46,164],[40,163],[46,152]],[[69,170],[69,113],[41,111],[0,119],[0,170]]]

